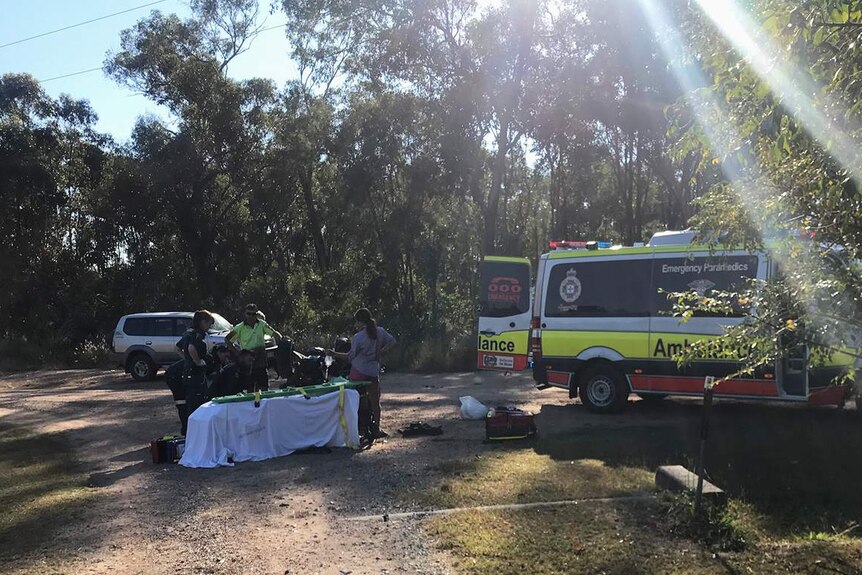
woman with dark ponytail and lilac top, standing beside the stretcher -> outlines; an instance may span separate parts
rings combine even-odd
[[[380,355],[397,342],[392,335],[377,325],[367,308],[360,308],[353,314],[357,328],[360,328],[350,341],[348,353],[328,353],[342,360],[350,361],[350,379],[369,381],[368,399],[371,410],[371,428],[375,438],[387,437],[380,429]]]

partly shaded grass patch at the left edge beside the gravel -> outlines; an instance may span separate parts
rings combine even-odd
[[[96,495],[57,437],[0,427],[0,453],[0,561],[44,560],[44,547]]]

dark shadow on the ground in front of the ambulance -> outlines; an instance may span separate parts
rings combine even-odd
[[[581,406],[543,407],[537,453],[609,466],[694,468],[701,407],[635,402],[595,420]],[[583,415],[590,423],[576,427]],[[862,433],[855,412],[720,402],[714,406],[706,470],[732,497],[766,515],[777,532],[832,532],[862,520]]]

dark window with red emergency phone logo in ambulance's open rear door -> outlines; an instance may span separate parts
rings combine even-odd
[[[530,310],[530,266],[516,262],[482,262],[479,315],[510,317]]]

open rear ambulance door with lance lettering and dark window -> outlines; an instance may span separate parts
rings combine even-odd
[[[479,369],[527,369],[530,260],[486,256],[479,277]]]

